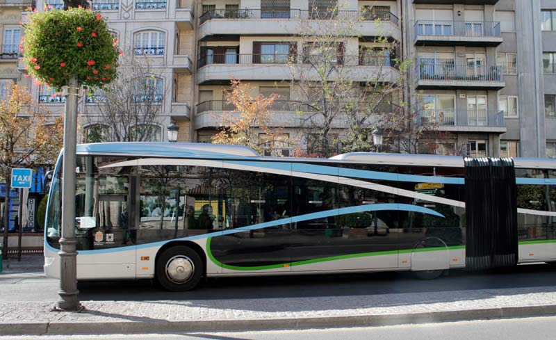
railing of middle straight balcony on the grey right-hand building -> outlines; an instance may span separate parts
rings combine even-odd
[[[418,80],[432,81],[502,81],[502,66],[455,65],[450,61],[418,63]]]

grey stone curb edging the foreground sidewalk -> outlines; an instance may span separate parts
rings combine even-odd
[[[556,314],[556,305],[502,307],[410,314],[340,317],[268,318],[205,321],[51,321],[0,323],[2,335],[24,334],[120,334],[160,332],[215,332],[238,330],[291,330],[319,327],[361,327],[438,323],[491,318],[516,318]]]

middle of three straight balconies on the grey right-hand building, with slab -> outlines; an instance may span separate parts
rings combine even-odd
[[[455,65],[453,60],[418,63],[415,67],[418,89],[482,89],[505,87],[502,66]]]

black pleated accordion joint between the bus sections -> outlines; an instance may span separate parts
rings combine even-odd
[[[512,159],[465,159],[466,268],[518,261],[516,172]]]

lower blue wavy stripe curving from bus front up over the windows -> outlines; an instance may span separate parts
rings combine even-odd
[[[187,237],[183,237],[183,238],[175,238],[175,239],[167,240],[167,241],[158,241],[158,242],[154,242],[154,243],[145,243],[145,244],[137,245],[136,249],[145,249],[145,248],[151,248],[151,247],[158,247],[158,246],[164,245],[165,243],[168,243],[170,241],[195,241],[195,240],[199,240],[199,239],[202,239],[202,238],[236,234],[236,233],[239,233],[239,232],[247,232],[247,231],[256,230],[256,229],[276,227],[278,225],[286,225],[286,224],[289,224],[289,223],[303,222],[303,221],[306,221],[306,220],[316,220],[318,218],[327,218],[327,217],[332,217],[332,216],[345,215],[347,213],[361,213],[361,212],[366,212],[366,211],[386,211],[386,210],[414,211],[416,213],[426,213],[426,214],[432,215],[432,216],[438,216],[438,217],[441,217],[441,218],[444,217],[441,213],[438,213],[438,212],[436,212],[432,209],[428,209],[428,208],[425,208],[425,207],[420,207],[418,205],[413,205],[413,204],[403,204],[403,203],[365,204],[365,205],[358,205],[358,206],[355,206],[355,207],[347,207],[347,208],[332,209],[332,210],[327,210],[327,211],[319,211],[317,213],[306,213],[306,214],[300,215],[300,216],[289,217],[289,218],[281,218],[280,220],[273,220],[273,221],[269,221],[269,222],[263,222],[263,223],[259,223],[259,224],[256,224],[256,225],[250,225],[250,226],[247,226],[247,227],[227,229],[227,230],[223,230],[222,232],[212,232],[212,233],[207,233],[207,234],[202,234],[202,235],[187,236]],[[50,245],[48,245],[48,243],[47,243],[47,247],[51,250],[56,251],[56,252],[58,251],[57,249],[52,248]],[[99,249],[99,250],[79,250],[78,252],[79,252],[79,254],[103,254],[103,253],[109,253],[109,252],[124,252],[126,250],[133,250],[133,248],[134,248],[133,246],[126,246],[126,247],[121,247],[121,248],[110,248],[110,249]]]

